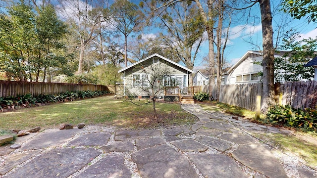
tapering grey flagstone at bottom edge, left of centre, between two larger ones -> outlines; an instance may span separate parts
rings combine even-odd
[[[106,163],[106,164],[105,164]],[[132,174],[124,165],[122,155],[106,155],[97,163],[91,165],[78,178],[131,178]]]

